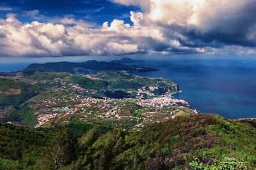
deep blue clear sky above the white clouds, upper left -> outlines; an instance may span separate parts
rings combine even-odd
[[[111,22],[116,18],[132,24],[130,20],[130,11],[140,11],[140,8],[136,6],[125,6],[103,0],[10,0],[1,1],[0,6],[6,8],[6,11],[0,10],[1,18],[5,18],[6,14],[12,12],[17,14],[17,18],[22,22],[31,22],[35,20],[33,17],[26,16],[25,13],[38,10],[40,15],[44,15],[44,18],[39,18],[40,22],[51,22],[51,19],[54,17],[73,15],[77,19],[96,22],[100,25],[106,21]]]

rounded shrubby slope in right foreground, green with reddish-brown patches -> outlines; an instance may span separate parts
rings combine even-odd
[[[198,161],[206,165],[227,155],[243,158],[248,167],[255,167],[255,146],[256,129],[252,125],[216,115],[196,115],[155,124],[139,134],[110,132],[92,145],[89,160],[93,161],[93,166],[103,161],[116,169],[150,166],[154,169],[156,165],[163,169],[168,169],[168,166],[183,169],[193,157],[198,157]],[[106,160],[102,160],[102,154]]]

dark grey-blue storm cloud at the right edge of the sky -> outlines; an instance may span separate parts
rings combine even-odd
[[[179,40],[188,47],[211,46],[221,48],[227,45],[256,46],[256,3],[252,1],[231,16],[222,16],[205,20],[201,26],[196,25],[162,25],[164,36]],[[185,36],[175,36],[177,32]]]

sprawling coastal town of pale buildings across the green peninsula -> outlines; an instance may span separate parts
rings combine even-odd
[[[4,78],[42,90],[21,105],[33,113],[34,127],[103,122],[140,131],[153,122],[197,113],[188,102],[172,97],[180,92],[179,85],[163,78],[111,71],[93,75],[19,72]]]

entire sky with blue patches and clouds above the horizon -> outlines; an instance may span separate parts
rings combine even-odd
[[[0,60],[256,54],[256,0],[0,0]]]

